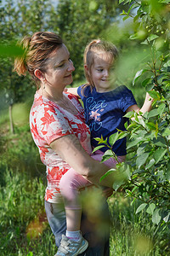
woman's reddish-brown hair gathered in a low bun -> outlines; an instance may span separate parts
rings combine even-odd
[[[49,55],[60,48],[63,41],[54,32],[35,32],[31,37],[23,38],[19,44],[24,49],[24,55],[15,59],[14,71],[19,75],[26,75],[28,71],[38,83],[34,71],[39,69],[45,73]]]

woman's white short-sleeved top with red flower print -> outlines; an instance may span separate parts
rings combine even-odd
[[[30,113],[31,135],[39,149],[42,163],[47,166],[48,186],[45,200],[56,202],[59,196],[59,180],[71,166],[65,163],[58,154],[50,148],[55,139],[75,134],[82,147],[91,154],[90,130],[85,124],[84,112],[77,96],[65,92],[79,113],[73,115],[38,94],[35,95]]]

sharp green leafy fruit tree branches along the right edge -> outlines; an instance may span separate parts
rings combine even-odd
[[[164,230],[170,224],[169,5],[166,1],[135,1],[123,15],[128,18],[130,10],[136,7],[137,14],[133,17],[136,32],[131,38],[150,47],[150,61],[144,62],[145,68],[136,73],[133,84],[144,75],[141,84],[154,99],[153,109],[144,114],[127,113],[125,117],[131,119],[126,123],[127,131],[117,131],[111,135],[111,146],[102,137],[97,140],[109,148],[104,154],[105,161],[111,156],[115,157],[111,147],[116,140],[127,137],[127,163],[118,163],[116,170],[110,171],[120,176],[114,188],[118,189],[126,182],[124,189],[127,196],[140,202],[136,213],[145,210],[153,224],[157,225],[157,230]],[[140,29],[146,24],[151,29],[141,38]]]

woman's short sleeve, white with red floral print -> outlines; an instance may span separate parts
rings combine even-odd
[[[48,143],[68,134],[73,134],[65,115],[50,105],[45,105],[37,111],[38,134]]]

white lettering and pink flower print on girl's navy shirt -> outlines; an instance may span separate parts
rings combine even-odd
[[[103,112],[104,108],[106,107],[107,107],[107,103],[105,103],[105,100],[99,100],[98,102],[95,102],[94,97],[88,97],[86,101],[86,108],[91,110],[89,111],[89,119],[94,119],[95,121],[98,122],[97,124],[95,122],[92,124],[89,124],[89,127],[91,130],[98,131],[101,128],[102,122],[100,121],[101,114],[99,112]]]

